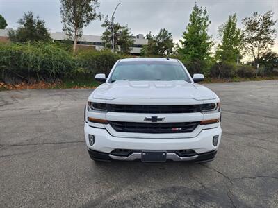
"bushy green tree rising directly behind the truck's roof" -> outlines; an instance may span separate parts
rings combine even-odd
[[[173,52],[174,42],[172,34],[166,29],[161,29],[157,35],[151,32],[147,35],[148,44],[143,46],[142,55],[170,55]]]

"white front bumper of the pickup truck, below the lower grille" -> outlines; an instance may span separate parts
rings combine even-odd
[[[94,128],[85,123],[84,125],[85,141],[88,150],[108,154],[108,159],[133,160],[138,159],[140,154],[134,154],[129,158],[111,157],[111,153],[115,149],[126,150],[194,150],[198,155],[216,151],[220,144],[222,130],[220,125],[217,128],[202,130],[196,137],[188,138],[163,138],[163,139],[147,139],[147,138],[129,138],[129,137],[113,137],[106,129]],[[88,135],[95,136],[95,143],[91,146]],[[213,136],[218,135],[218,144],[213,146]],[[167,155],[168,157],[168,155]],[[172,160],[195,160],[197,157],[179,159],[175,155],[169,154]]]

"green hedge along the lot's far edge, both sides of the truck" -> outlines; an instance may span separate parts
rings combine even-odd
[[[96,73],[108,73],[120,58],[111,51],[79,51],[72,53],[68,44],[29,42],[0,44],[0,79],[5,83],[38,80],[88,80]],[[211,78],[252,78],[256,71],[249,65],[215,63],[211,67],[196,61],[183,63],[191,74],[206,73]],[[258,71],[261,75],[261,71]],[[264,72],[264,71],[263,71]],[[264,74],[264,73],[263,73]]]

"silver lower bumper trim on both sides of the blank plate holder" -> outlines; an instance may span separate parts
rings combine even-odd
[[[127,157],[122,157],[122,156],[115,156],[109,154],[109,157],[112,159],[117,159],[117,160],[126,160],[126,161],[131,161],[135,159],[141,159],[141,154],[142,153],[132,153],[131,155]],[[173,161],[190,161],[193,159],[196,159],[198,155],[190,156],[190,157],[179,157],[176,153],[167,153],[166,159],[172,159]]]

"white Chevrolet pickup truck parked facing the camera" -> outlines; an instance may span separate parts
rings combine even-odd
[[[220,100],[179,60],[126,58],[88,98],[85,142],[95,161],[214,159],[221,139]]]

